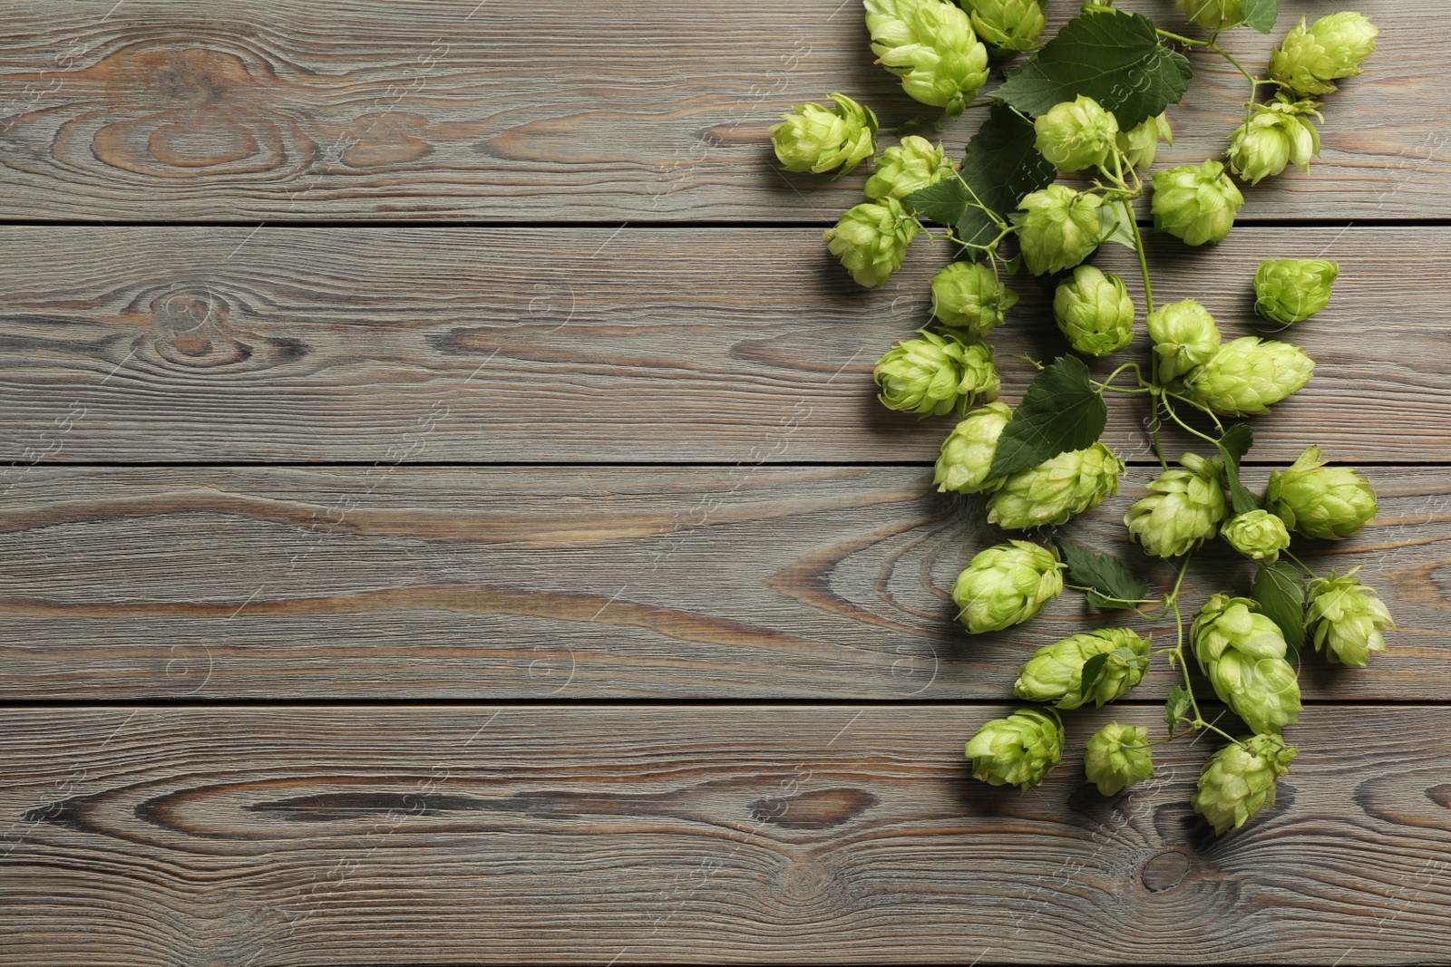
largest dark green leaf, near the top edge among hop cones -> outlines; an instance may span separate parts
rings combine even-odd
[[[1093,97],[1127,130],[1177,104],[1193,77],[1188,58],[1159,43],[1139,13],[1093,7],[1069,20],[995,97],[1037,117],[1078,94]]]

